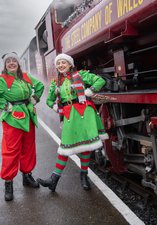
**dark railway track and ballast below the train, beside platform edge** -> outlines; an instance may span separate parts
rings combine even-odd
[[[140,176],[129,172],[113,174],[94,159],[90,168],[146,225],[157,224],[157,195],[141,185]]]

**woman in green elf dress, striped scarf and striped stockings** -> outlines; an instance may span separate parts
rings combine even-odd
[[[105,85],[105,80],[88,71],[74,71],[73,58],[64,53],[55,58],[55,66],[58,83],[52,81],[47,105],[58,111],[63,120],[61,144],[52,175],[48,179],[37,180],[42,186],[54,192],[68,157],[77,154],[81,164],[81,185],[84,190],[90,190],[87,174],[91,151],[102,147],[102,140],[108,139],[90,97]]]

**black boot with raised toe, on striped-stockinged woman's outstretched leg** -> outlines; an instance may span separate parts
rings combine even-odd
[[[58,174],[52,173],[51,177],[46,180],[38,178],[37,181],[43,187],[48,187],[52,192],[55,192],[57,183],[59,181],[60,176]]]

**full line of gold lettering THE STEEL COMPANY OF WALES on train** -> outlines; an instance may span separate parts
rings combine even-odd
[[[81,41],[100,31],[118,18],[125,16],[144,3],[144,0],[112,0],[89,19],[84,21],[64,38],[66,49],[76,46]],[[116,5],[115,5],[116,4]],[[115,12],[115,8],[117,11]],[[113,13],[114,12],[114,13]]]

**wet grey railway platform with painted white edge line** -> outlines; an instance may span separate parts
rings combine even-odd
[[[37,165],[33,176],[47,178],[54,168],[60,127],[58,116],[45,103],[40,103],[37,110]],[[89,171],[92,190],[82,190],[77,164],[77,158],[69,159],[56,193],[44,187],[37,190],[23,187],[19,172],[14,179],[14,200],[5,202],[4,184],[0,180],[0,225],[144,224],[124,207],[92,171]]]

